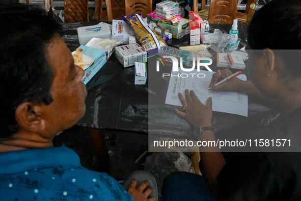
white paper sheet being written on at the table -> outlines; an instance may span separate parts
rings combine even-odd
[[[189,75],[188,78],[186,74]],[[196,73],[192,78],[191,74]],[[198,78],[197,74],[204,73],[205,78]],[[184,72],[179,69],[178,72],[172,72],[169,81],[169,86],[167,90],[165,103],[169,105],[182,106],[180,103],[178,93],[181,92],[184,95],[185,89],[194,90],[198,98],[203,104],[206,104],[207,98],[212,97],[212,110],[217,112],[225,112],[230,114],[238,114],[242,116],[248,116],[248,95],[247,93],[238,91],[222,91],[215,92],[208,90],[209,84],[211,82],[212,74],[214,72],[209,72],[205,70],[193,70],[190,72]],[[176,76],[179,74],[179,78]],[[203,77],[202,74],[199,77]],[[240,74],[237,78],[241,80],[247,80],[244,74]]]

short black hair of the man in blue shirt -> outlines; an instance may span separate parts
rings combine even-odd
[[[24,102],[50,104],[53,72],[45,54],[61,26],[45,10],[0,1],[0,141],[18,131],[15,110]]]

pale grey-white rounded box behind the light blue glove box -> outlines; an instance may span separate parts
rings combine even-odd
[[[108,24],[96,24],[94,26],[77,28],[78,41],[81,45],[86,45],[92,38],[108,38],[111,30]]]

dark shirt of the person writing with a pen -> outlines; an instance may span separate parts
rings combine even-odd
[[[301,150],[301,108],[279,116],[255,135],[291,139],[291,146],[287,152],[268,147],[269,152],[234,153],[217,177],[220,199],[301,200],[301,152],[296,152]]]

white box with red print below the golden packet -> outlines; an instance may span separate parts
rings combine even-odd
[[[138,43],[118,46],[115,52],[124,67],[132,66],[135,62],[147,62],[147,52]]]

